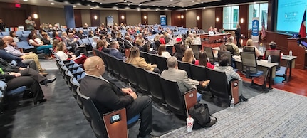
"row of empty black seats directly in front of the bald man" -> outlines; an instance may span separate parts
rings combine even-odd
[[[105,61],[105,70],[108,70],[115,77],[120,78],[124,83],[130,83],[138,92],[143,95],[151,95],[152,100],[162,104],[166,104],[168,109],[176,115],[187,117],[186,100],[179,91],[177,82],[166,80],[159,74],[143,68],[135,67],[130,63],[125,63],[113,56],[97,50],[95,54]],[[190,90],[186,95],[193,93],[194,101],[200,100],[201,95],[197,95],[197,90]]]

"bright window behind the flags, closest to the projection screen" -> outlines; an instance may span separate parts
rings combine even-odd
[[[251,21],[253,17],[259,17],[259,30],[262,29],[262,19],[267,27],[268,21],[268,3],[249,5],[249,30],[251,30]]]

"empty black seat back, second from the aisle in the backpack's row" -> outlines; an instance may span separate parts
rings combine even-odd
[[[155,102],[165,103],[165,97],[162,92],[159,75],[152,71],[145,70],[145,77],[150,89],[150,94],[152,95],[152,100]]]

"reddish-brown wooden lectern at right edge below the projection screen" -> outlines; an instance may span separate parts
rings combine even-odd
[[[306,41],[307,38],[288,38],[288,52],[292,51],[293,56],[297,56],[296,66],[297,69],[304,69],[307,65],[307,53],[304,46],[299,46],[298,41]]]

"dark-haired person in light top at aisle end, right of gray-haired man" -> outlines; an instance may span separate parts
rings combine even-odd
[[[229,58],[227,57],[227,55],[223,54],[221,55],[220,59],[219,59],[219,64],[215,65],[214,70],[218,70],[218,71],[223,71],[226,74],[228,83],[232,80],[232,79],[237,79],[239,80],[239,101],[247,101],[247,99],[243,96],[242,94],[242,78],[240,77],[240,75],[238,73],[236,73],[234,71],[234,68],[232,68],[231,66],[228,65],[229,63]]]

